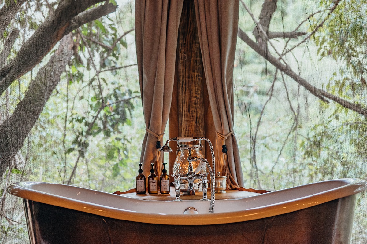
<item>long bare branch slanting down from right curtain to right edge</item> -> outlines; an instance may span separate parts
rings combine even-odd
[[[243,40],[247,45],[249,45],[252,49],[254,49],[255,52],[257,52],[259,55],[264,57],[266,60],[268,60],[271,64],[273,64],[276,68],[278,68],[280,71],[287,74],[289,77],[291,77],[293,80],[298,82],[301,86],[303,86],[306,90],[308,90],[310,93],[321,99],[322,101],[328,103],[328,99],[331,99],[340,105],[342,105],[345,108],[349,108],[350,110],[356,111],[359,114],[362,114],[367,117],[367,110],[364,108],[361,108],[357,106],[354,103],[350,103],[349,101],[346,101],[340,97],[337,97],[331,93],[328,93],[322,89],[316,88],[315,86],[309,84],[304,78],[300,77],[294,71],[290,69],[290,67],[287,67],[283,63],[281,63],[277,58],[275,58],[273,55],[271,55],[267,50],[264,50],[260,47],[259,44],[252,41],[250,37],[247,36],[246,33],[243,32],[240,28],[238,29],[238,36],[241,40]]]

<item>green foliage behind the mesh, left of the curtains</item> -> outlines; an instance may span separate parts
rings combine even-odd
[[[10,58],[17,55],[48,16],[48,10],[51,13],[57,4],[27,1],[23,5],[17,22],[3,33],[6,38],[12,28],[21,29]],[[75,55],[21,149],[25,165],[15,165],[7,171],[3,185],[8,180],[67,183],[106,192],[132,188],[145,133],[142,111],[135,110],[141,104],[135,46],[131,41],[132,4],[128,1],[115,14],[73,32]],[[1,97],[1,106],[6,104],[10,114],[56,48],[30,74],[11,85],[8,100]],[[22,203],[11,199],[8,196],[0,203],[5,206],[4,214],[25,223]],[[28,239],[24,225],[7,222],[3,215],[1,228],[4,243]]]

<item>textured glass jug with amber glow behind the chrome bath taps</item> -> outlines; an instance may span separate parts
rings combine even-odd
[[[173,163],[173,174],[181,174],[185,175],[189,171],[189,161],[187,158],[189,157],[189,148],[191,149],[191,156],[197,157],[197,158],[204,158],[201,154],[201,148],[200,145],[179,145],[179,148],[177,150],[177,156],[176,160]],[[197,166],[199,166],[200,161],[193,161],[192,167],[195,170]],[[200,170],[198,173],[207,173],[209,172],[207,167],[204,167],[204,169]],[[203,191],[201,183],[199,183],[200,180],[194,181],[194,190],[195,192],[201,192]],[[180,191],[185,195],[188,189],[188,182],[186,180],[182,180],[180,184]]]

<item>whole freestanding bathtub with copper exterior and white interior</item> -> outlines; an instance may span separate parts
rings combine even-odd
[[[360,179],[321,181],[241,199],[139,200],[70,185],[19,182],[32,244],[347,244]],[[183,214],[186,208],[198,214]]]

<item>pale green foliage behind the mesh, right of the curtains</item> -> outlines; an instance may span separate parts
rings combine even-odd
[[[258,18],[264,1],[243,2]],[[278,52],[297,45],[282,58],[310,84],[366,108],[366,10],[366,1],[359,0],[278,1],[269,31],[298,28],[307,34],[298,40],[270,41]],[[255,25],[244,8],[239,26],[254,40]],[[313,31],[310,40],[303,40]],[[287,75],[278,71],[274,77],[272,69],[237,40],[235,133],[247,187],[281,189],[333,178],[367,179],[366,118],[334,101],[320,102]],[[357,198],[351,243],[360,244],[367,240],[367,203],[365,194]]]

